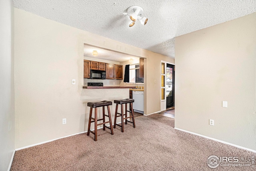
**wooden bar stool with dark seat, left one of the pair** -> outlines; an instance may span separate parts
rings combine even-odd
[[[110,114],[110,108],[109,105],[112,105],[112,101],[99,101],[99,102],[88,102],[87,106],[90,107],[90,117],[89,117],[89,123],[88,123],[88,131],[87,131],[87,135],[90,135],[90,132],[94,134],[94,141],[97,141],[97,126],[98,125],[102,125],[103,124],[103,130],[105,130],[105,128],[108,128],[111,130],[111,134],[113,135],[113,126],[112,126],[112,121],[111,121],[111,114]],[[105,106],[108,107],[108,115],[105,115]],[[102,107],[102,119],[98,119],[97,118],[97,108],[98,107]],[[92,117],[92,108],[94,108],[94,118]],[[105,117],[109,118],[109,121],[105,121]],[[92,121],[93,120],[93,121]],[[102,121],[103,123],[98,123],[98,121]],[[91,127],[91,123],[94,122],[94,132],[90,130]],[[105,124],[109,123],[110,126],[106,126]]]

